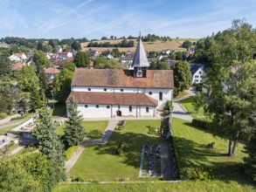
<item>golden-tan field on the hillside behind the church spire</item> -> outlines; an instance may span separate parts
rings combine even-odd
[[[121,42],[122,39],[118,39],[118,40],[99,40],[97,41],[99,44],[100,43],[104,43],[104,42],[110,42],[112,44],[116,44]],[[119,51],[135,51],[136,46],[137,46],[137,41],[135,39],[132,39],[133,41],[135,41],[135,46],[134,47],[119,47]],[[164,49],[170,49],[170,50],[180,50],[180,51],[186,51],[186,49],[184,49],[181,45],[183,44],[183,42],[185,40],[190,40],[191,42],[195,42],[197,41],[197,39],[192,39],[192,38],[188,38],[188,39],[183,39],[183,38],[175,38],[172,39],[171,41],[161,41],[161,40],[157,40],[156,42],[143,42],[145,51],[163,51]],[[82,51],[88,51],[90,48],[87,47],[89,42],[86,43],[81,43],[81,47],[82,47]],[[114,47],[92,47],[91,49],[95,49],[97,51],[107,51],[108,50],[112,50]]]

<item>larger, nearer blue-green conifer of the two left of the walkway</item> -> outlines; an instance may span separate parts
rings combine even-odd
[[[57,134],[56,125],[52,122],[46,109],[41,115],[42,120],[33,129],[32,134],[38,140],[39,151],[62,168],[65,161],[64,146]]]

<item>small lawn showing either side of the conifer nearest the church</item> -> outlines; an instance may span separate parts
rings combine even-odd
[[[82,125],[86,129],[86,137],[90,137],[92,139],[99,139],[103,134],[104,130],[107,127],[107,120],[100,121],[83,121]],[[60,135],[64,134],[63,128],[66,126],[66,123],[62,124],[57,128],[57,132]]]

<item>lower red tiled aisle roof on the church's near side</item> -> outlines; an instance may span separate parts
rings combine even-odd
[[[157,106],[158,101],[143,93],[91,93],[91,92],[72,92],[66,99],[73,97],[75,103],[80,104],[105,104],[105,105],[124,105],[124,106]]]

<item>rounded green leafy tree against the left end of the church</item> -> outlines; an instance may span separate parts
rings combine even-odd
[[[71,82],[73,79],[73,72],[68,69],[63,69],[54,76],[53,93],[55,99],[59,102],[64,102],[71,91]]]

